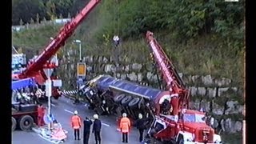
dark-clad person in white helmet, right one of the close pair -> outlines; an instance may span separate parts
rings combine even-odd
[[[95,137],[96,144],[101,144],[101,130],[102,130],[102,122],[98,119],[98,114],[94,114],[94,125],[93,125],[93,133]]]

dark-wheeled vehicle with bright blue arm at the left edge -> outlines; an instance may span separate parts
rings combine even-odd
[[[18,101],[14,96],[15,94],[19,94],[22,97],[18,90],[21,90],[26,87],[30,87],[30,90],[33,90],[34,86],[36,86],[34,78],[25,78],[22,80],[12,81],[12,130],[15,130],[17,127],[19,127],[21,130],[30,130],[34,123],[38,122],[38,106],[36,104],[26,102],[26,100]]]

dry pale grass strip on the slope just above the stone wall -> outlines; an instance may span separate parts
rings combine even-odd
[[[90,27],[89,27],[90,28]],[[42,50],[50,37],[57,34],[60,26],[44,26],[39,29],[23,30],[20,33],[12,34],[14,46],[20,46],[29,50]],[[109,42],[94,44],[94,38],[89,38],[83,34],[81,27],[76,31],[74,36],[66,42],[66,48],[76,48],[71,41],[74,38],[82,40],[83,54],[102,55],[114,57],[118,54],[123,60],[130,62],[150,63],[150,48],[146,45],[145,39],[135,41],[128,40],[122,42],[118,50]],[[162,35],[159,32],[155,34],[158,42],[171,61],[176,66],[178,72],[184,74],[211,74],[216,78],[230,78],[235,86],[242,86],[243,74],[243,52],[232,51],[232,47],[222,45],[221,40],[211,40],[210,36],[198,38],[198,40],[187,43],[172,42],[171,38]],[[85,36],[86,35],[86,36]],[[162,37],[159,38],[159,35]],[[88,39],[88,40],[87,40]],[[60,50],[63,53],[63,50]]]

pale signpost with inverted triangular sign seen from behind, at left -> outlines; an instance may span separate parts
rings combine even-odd
[[[50,111],[50,97],[51,97],[51,80],[50,80],[50,76],[51,74],[53,74],[53,69],[43,69],[43,71],[46,74],[46,77],[48,78],[46,80],[46,96],[48,97],[48,115],[51,114]],[[48,124],[48,129],[50,130],[50,122]]]

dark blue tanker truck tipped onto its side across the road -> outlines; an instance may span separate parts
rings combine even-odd
[[[90,109],[99,114],[118,114],[126,112],[132,119],[141,113],[154,119],[154,107],[158,98],[166,94],[163,90],[142,86],[134,82],[101,75],[95,81],[80,89],[80,95],[90,103]]]

